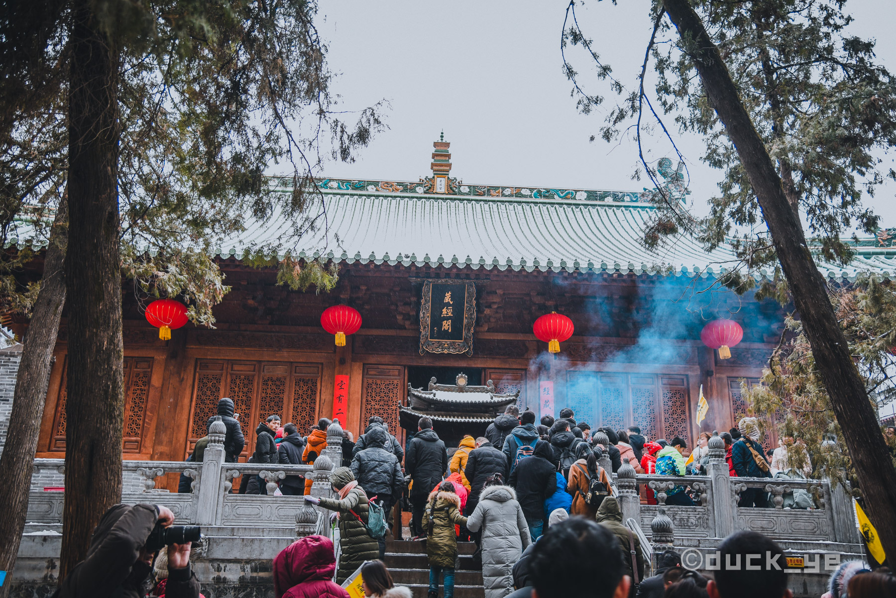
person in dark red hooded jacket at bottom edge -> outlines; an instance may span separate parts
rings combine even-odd
[[[336,570],[333,542],[308,535],[292,542],[273,561],[274,598],[349,598],[332,582]]]

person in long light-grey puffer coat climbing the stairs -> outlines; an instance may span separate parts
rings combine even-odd
[[[486,486],[467,518],[470,532],[482,530],[482,580],[486,598],[513,592],[513,563],[530,545],[529,525],[510,486]]]

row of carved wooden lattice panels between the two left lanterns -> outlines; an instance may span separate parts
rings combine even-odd
[[[321,366],[317,363],[211,361],[197,363],[193,415],[187,452],[205,436],[209,418],[218,413],[218,401],[234,402],[246,437],[243,455],[254,450],[255,428],[269,415],[280,423],[295,423],[298,431],[316,423]]]

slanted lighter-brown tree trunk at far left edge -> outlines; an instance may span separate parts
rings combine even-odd
[[[53,348],[59,333],[59,319],[65,303],[65,245],[68,243],[68,205],[65,195],[56,210],[44,258],[44,277],[38,301],[34,303],[31,322],[22,341],[22,361],[15,380],[13,411],[9,416],[9,433],[0,457],[0,571],[7,571],[0,585],[0,598],[9,595],[15,556],[22,541],[28,492],[31,486],[31,464],[38,447],[40,414],[44,413],[47,383]]]

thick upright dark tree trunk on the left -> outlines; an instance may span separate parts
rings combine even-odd
[[[69,83],[68,399],[59,579],[121,500],[121,256],[118,248],[119,56],[90,0],[73,4]]]

